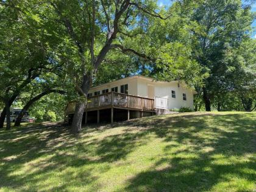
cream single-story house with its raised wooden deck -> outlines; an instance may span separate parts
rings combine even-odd
[[[145,76],[131,76],[91,87],[83,123],[99,123],[140,118],[169,110],[189,107],[193,110],[196,91],[178,80],[156,81]],[[75,103],[66,107],[69,123]]]

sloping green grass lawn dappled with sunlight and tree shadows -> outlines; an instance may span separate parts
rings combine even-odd
[[[0,191],[256,191],[256,113],[0,130]]]

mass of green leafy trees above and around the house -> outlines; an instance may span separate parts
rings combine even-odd
[[[133,74],[186,82],[197,91],[194,110],[254,110],[251,4],[180,0],[165,9],[155,0],[2,0],[0,127],[7,116],[10,129],[15,105],[42,121],[59,120],[63,105],[76,101],[77,133],[90,87]]]

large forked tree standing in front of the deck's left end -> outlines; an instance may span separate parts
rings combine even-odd
[[[52,1],[49,6],[55,12],[56,26],[65,30],[61,34],[66,48],[62,56],[67,74],[79,94],[71,127],[71,132],[77,133],[81,129],[93,74],[97,73],[108,52],[116,49],[149,59],[143,50],[126,44],[126,37],[132,38],[138,30],[146,30],[143,27],[147,17],[164,18],[155,11],[155,1],[66,0]]]

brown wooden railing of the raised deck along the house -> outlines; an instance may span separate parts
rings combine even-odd
[[[66,107],[66,114],[74,113],[76,103],[70,102]],[[85,112],[104,108],[124,108],[127,110],[155,111],[155,100],[123,93],[105,93],[88,98]]]

